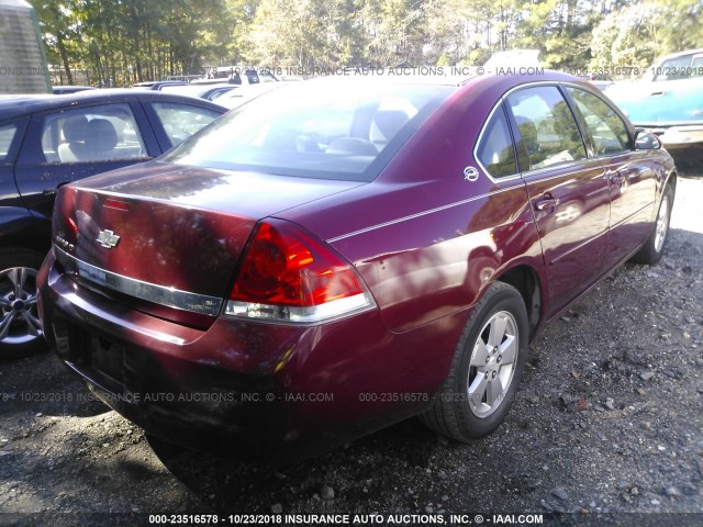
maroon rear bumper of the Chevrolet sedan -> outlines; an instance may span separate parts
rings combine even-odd
[[[451,359],[388,332],[376,310],[315,326],[220,317],[204,330],[80,288],[52,255],[38,282],[66,366],[147,433],[197,448],[279,462],[346,442],[428,407]]]

